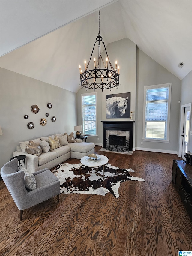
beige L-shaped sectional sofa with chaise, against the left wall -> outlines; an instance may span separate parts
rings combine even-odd
[[[64,134],[54,134],[47,137],[33,139],[32,141],[38,145],[41,145],[41,141],[47,141],[49,137],[54,139],[55,135],[64,136]],[[58,136],[58,138],[60,139],[61,137]],[[18,155],[26,155],[25,166],[26,169],[30,170],[31,172],[36,172],[44,168],[51,169],[69,158],[81,159],[87,154],[95,153],[94,143],[85,143],[78,139],[76,139],[76,142],[63,143],[64,145],[56,149],[49,150],[48,152],[44,150],[45,152],[42,152],[40,156],[27,153],[25,151],[27,144],[29,144],[29,140],[20,142],[20,145],[16,146],[16,151],[13,152],[13,157]]]

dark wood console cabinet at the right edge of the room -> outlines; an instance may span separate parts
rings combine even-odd
[[[192,219],[192,166],[182,160],[173,160],[172,182]]]

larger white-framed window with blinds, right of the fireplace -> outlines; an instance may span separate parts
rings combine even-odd
[[[144,87],[143,140],[169,142],[171,83]]]

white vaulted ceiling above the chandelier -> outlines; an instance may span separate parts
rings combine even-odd
[[[77,92],[98,9],[106,46],[127,37],[180,79],[192,70],[191,0],[0,0],[0,66]]]

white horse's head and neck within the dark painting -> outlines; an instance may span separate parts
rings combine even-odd
[[[115,115],[116,107],[119,110],[120,116],[125,115],[125,110],[127,108],[127,98],[122,97],[111,97],[106,100],[106,113],[107,118],[113,118]]]

